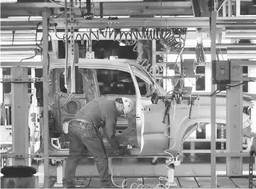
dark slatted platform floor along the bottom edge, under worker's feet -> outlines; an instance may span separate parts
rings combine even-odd
[[[55,177],[50,178],[50,188],[62,188],[53,186],[56,182]],[[160,181],[158,177],[114,177],[113,180],[117,185],[121,185],[124,179],[128,179],[127,186],[125,188],[130,188],[132,183],[148,185],[149,187],[155,188],[157,184],[165,184],[165,181]],[[211,188],[211,177],[207,176],[179,176],[175,177],[176,187],[170,188]],[[99,177],[87,177],[78,176],[76,178],[77,188],[101,188],[99,183]],[[218,176],[217,178],[218,188],[249,188],[248,176],[245,177],[227,177]],[[133,185],[133,188],[135,185]],[[253,188],[256,188],[256,178],[253,180]]]

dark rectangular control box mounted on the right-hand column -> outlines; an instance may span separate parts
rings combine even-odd
[[[230,84],[230,62],[213,61],[212,76],[213,84]]]

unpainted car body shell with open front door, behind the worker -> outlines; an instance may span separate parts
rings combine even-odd
[[[130,118],[118,118],[117,124],[118,140],[121,144],[129,144],[133,147],[129,156],[167,157],[169,153],[177,156],[179,146],[184,139],[196,128],[204,127],[210,122],[210,98],[207,94],[191,95],[185,91],[169,94],[134,60],[79,59],[75,70],[75,93],[70,93],[70,88],[66,90],[64,86],[63,64],[55,62],[50,65],[48,105],[50,157],[68,155],[69,142],[62,125],[72,119],[82,105],[94,98],[115,99],[125,95],[135,103],[134,114]],[[42,88],[37,84],[35,87],[36,98],[33,98],[30,106],[33,110],[43,101],[40,95]],[[225,97],[220,95],[216,101],[217,120],[222,125],[226,125]],[[243,107],[250,108],[252,103],[244,100]],[[247,114],[243,113],[244,123],[250,118]],[[34,119],[31,125],[37,125],[36,122],[38,120]],[[247,124],[246,127],[249,125]],[[30,141],[35,142],[34,152],[40,152],[41,141],[35,136],[40,137],[40,134],[36,134],[30,127],[30,137],[33,138]],[[104,144],[108,153],[113,151],[106,139]],[[167,149],[169,151],[165,153]],[[87,154],[86,149],[84,153]]]

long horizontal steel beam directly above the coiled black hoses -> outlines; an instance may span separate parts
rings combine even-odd
[[[227,17],[228,18],[228,17]],[[121,18],[118,21],[109,21],[107,18],[95,18],[85,20],[84,18],[74,20],[74,28],[184,28],[184,27],[201,27],[208,28],[208,18]],[[1,22],[1,30],[35,30],[37,21],[4,21]],[[65,28],[65,20],[55,20],[56,28]],[[40,25],[39,28],[42,28]],[[50,27],[55,29],[55,27]]]

